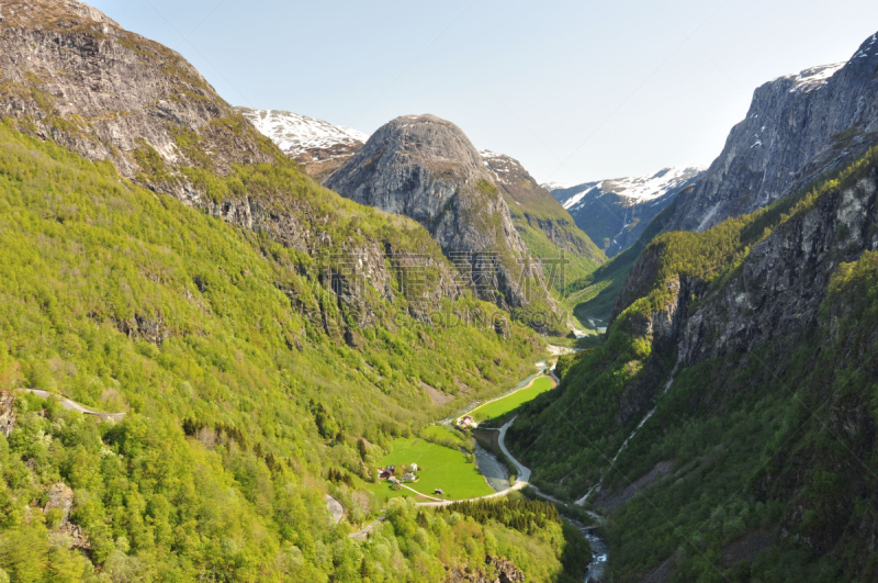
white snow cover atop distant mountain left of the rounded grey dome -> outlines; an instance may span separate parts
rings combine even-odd
[[[241,108],[240,112],[262,135],[292,157],[311,149],[330,149],[339,144],[359,147],[369,139],[369,135],[352,127],[333,125],[288,111]]]

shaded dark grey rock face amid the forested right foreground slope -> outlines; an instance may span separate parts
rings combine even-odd
[[[878,250],[876,190],[873,171],[756,245],[740,274],[688,317],[679,338],[686,366],[817,327],[838,265]]]

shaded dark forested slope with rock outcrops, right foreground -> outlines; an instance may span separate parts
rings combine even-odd
[[[871,149],[756,213],[660,235],[606,343],[516,422],[541,486],[610,516],[620,580],[876,576],[877,192]]]

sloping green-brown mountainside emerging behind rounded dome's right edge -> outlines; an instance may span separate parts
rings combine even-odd
[[[494,175],[494,183],[500,189],[519,233],[537,229],[560,249],[596,264],[604,261],[600,250],[576,226],[570,213],[537,183],[521,162],[488,150],[481,154],[485,166]]]

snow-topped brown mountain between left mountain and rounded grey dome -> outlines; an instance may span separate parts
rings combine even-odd
[[[369,136],[297,113],[277,110],[238,111],[316,180],[330,175],[365,144]]]

